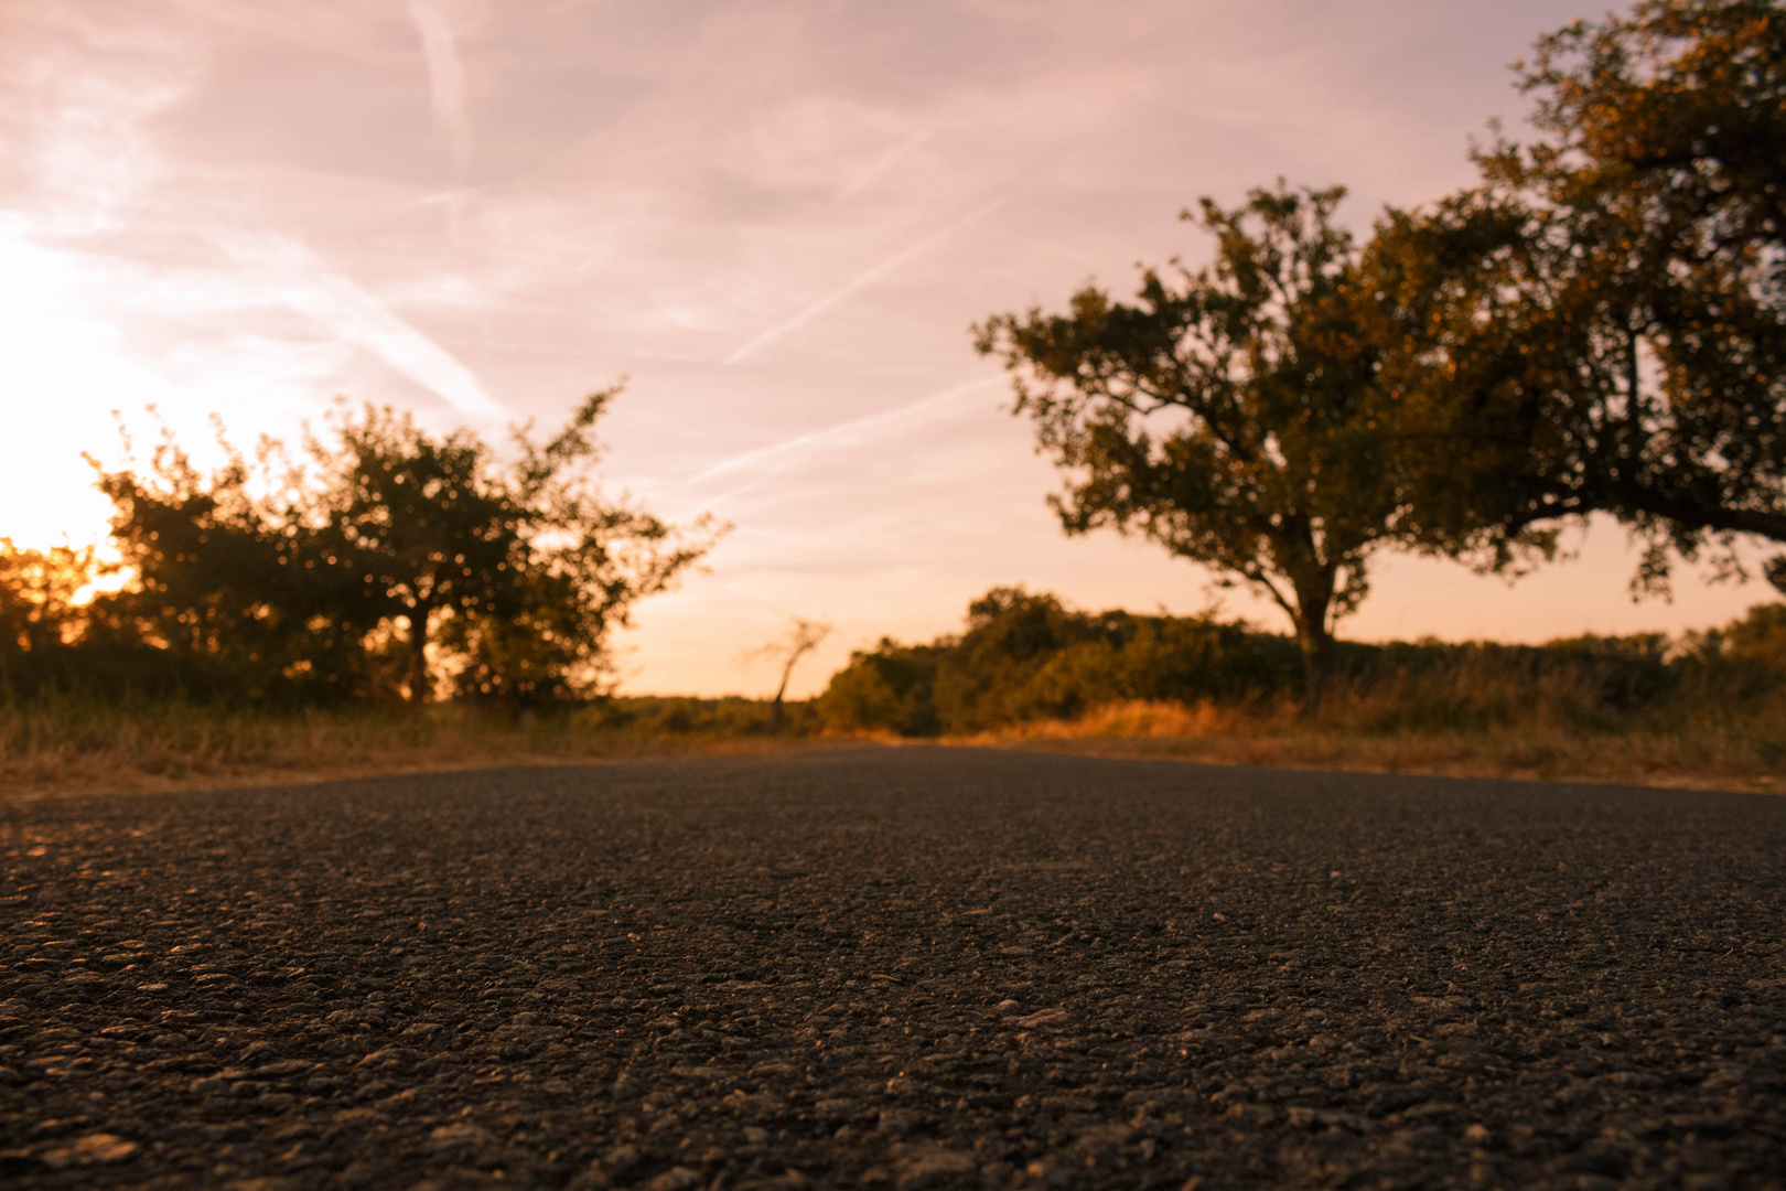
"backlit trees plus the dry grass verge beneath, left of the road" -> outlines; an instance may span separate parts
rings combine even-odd
[[[584,398],[505,450],[346,405],[291,450],[220,432],[96,468],[111,546],[0,539],[0,789],[154,789],[738,750],[784,712],[620,700],[611,636],[723,527],[593,475]],[[114,580],[114,582],[113,582]],[[786,714],[798,729],[800,711]]]

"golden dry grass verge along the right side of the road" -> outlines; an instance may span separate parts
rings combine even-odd
[[[1347,711],[1306,723],[1284,707],[1129,702],[1079,720],[1045,720],[956,737],[1095,757],[1259,764],[1363,773],[1622,782],[1684,789],[1786,791],[1779,750],[1741,734],[1582,732],[1556,727],[1363,732]]]

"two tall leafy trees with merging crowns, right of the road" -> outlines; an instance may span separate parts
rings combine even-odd
[[[1063,529],[1264,595],[1311,705],[1386,548],[1506,573],[1611,514],[1666,591],[1675,559],[1747,577],[1741,541],[1786,543],[1786,12],[1645,0],[1516,71],[1536,139],[1363,243],[1343,187],[1279,182],[1184,212],[1204,268],[975,327],[1068,477]]]

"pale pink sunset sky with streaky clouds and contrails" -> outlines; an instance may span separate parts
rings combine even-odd
[[[500,439],[625,377],[611,491],[732,530],[616,637],[630,693],[959,627],[995,584],[1282,614],[1145,541],[1064,537],[972,323],[1207,243],[1248,187],[1384,204],[1472,180],[1556,0],[11,0],[0,4],[0,536],[95,541],[82,452],[155,418],[293,437],[338,395]],[[148,409],[154,407],[154,414]],[[116,414],[114,414],[116,411]],[[18,445],[25,445],[20,450]],[[1634,604],[1618,527],[1518,584],[1381,557],[1341,636],[1709,627]]]

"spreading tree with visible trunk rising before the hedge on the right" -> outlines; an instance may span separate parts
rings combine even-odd
[[[1400,534],[1357,254],[1332,223],[1343,195],[1281,182],[1232,211],[1206,198],[1207,268],[1147,270],[1132,305],[1088,286],[1068,314],[975,327],[981,354],[1016,373],[1014,412],[1070,473],[1050,500],[1063,529],[1138,530],[1264,593],[1295,625],[1309,709],[1334,621]]]

